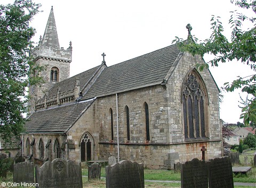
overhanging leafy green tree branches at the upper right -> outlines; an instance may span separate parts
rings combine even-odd
[[[256,1],[251,0],[231,0],[240,8],[250,10],[256,13]],[[246,11],[246,13],[248,13]],[[183,52],[189,52],[193,55],[204,56],[204,54],[212,54],[215,57],[205,63],[198,64],[197,68],[203,70],[211,66],[218,66],[218,64],[225,63],[227,61],[239,61],[247,64],[249,69],[256,71],[256,27],[254,17],[246,16],[243,13],[237,11],[231,12],[231,18],[229,20],[231,28],[231,37],[226,37],[223,34],[222,23],[220,22],[219,16],[213,16],[211,19],[212,33],[209,39],[199,41],[195,36],[189,35],[187,40],[183,40],[176,37],[173,42],[179,44],[180,49]],[[243,30],[243,23],[245,21],[251,22],[252,27]],[[190,26],[190,25],[188,25]],[[191,29],[191,28],[190,28]],[[238,77],[232,83],[225,83],[224,88],[227,91],[234,91],[235,89],[241,88],[242,92],[246,92],[248,98],[241,101],[242,103],[242,114],[240,118],[243,118],[245,125],[256,124],[256,74],[248,75],[244,78]]]

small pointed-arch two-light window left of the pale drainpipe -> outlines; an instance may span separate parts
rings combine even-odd
[[[85,133],[82,136],[80,142],[80,151],[81,151],[81,162],[92,160],[92,145],[93,139],[89,133]]]

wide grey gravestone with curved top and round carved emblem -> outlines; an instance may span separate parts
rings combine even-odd
[[[38,187],[83,187],[81,163],[61,158],[36,165]]]

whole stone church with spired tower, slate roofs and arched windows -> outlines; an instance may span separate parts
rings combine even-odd
[[[72,45],[60,48],[51,9],[44,36],[31,55],[45,83],[29,87],[30,115],[23,155],[35,163],[54,158],[119,160],[167,168],[178,161],[222,156],[219,89],[199,56],[177,45],[69,78]],[[32,75],[33,76],[33,75]]]

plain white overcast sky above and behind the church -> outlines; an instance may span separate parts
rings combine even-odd
[[[12,3],[1,0],[1,4]],[[37,31],[33,41],[38,44],[44,35],[51,7],[57,25],[60,47],[69,47],[72,42],[73,55],[70,76],[98,66],[102,53],[106,54],[107,66],[153,52],[172,44],[175,36],[186,39],[186,25],[191,24],[191,34],[199,40],[211,35],[212,15],[220,16],[225,34],[230,36],[230,11],[239,10],[229,0],[34,0],[41,3],[31,26]],[[249,12],[249,11],[247,11]],[[247,25],[246,25],[247,27]],[[207,62],[212,56],[204,56]],[[241,62],[220,63],[210,67],[218,87],[231,82],[238,75],[251,75],[249,66]],[[222,93],[220,118],[226,123],[242,122],[239,92]],[[244,98],[246,95],[242,95]]]

